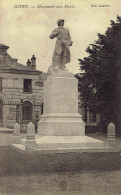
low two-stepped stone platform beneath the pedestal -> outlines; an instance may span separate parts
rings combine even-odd
[[[26,138],[21,144],[12,144],[11,147],[21,153],[95,153],[118,152],[117,147],[109,147],[106,142],[88,136],[40,136],[36,135],[36,149],[26,150]]]

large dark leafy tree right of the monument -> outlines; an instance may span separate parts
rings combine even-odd
[[[86,51],[89,56],[83,60],[79,59],[80,70],[84,72],[79,82],[84,106],[101,113],[103,127],[112,121],[119,132],[121,122],[121,17],[117,16],[116,22],[111,21],[111,26],[104,35],[98,33],[98,40],[90,44]]]

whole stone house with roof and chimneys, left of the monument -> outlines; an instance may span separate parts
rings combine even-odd
[[[36,123],[43,109],[43,82],[46,73],[36,70],[33,55],[27,66],[19,64],[0,44],[0,127],[13,127],[16,122],[26,128]]]

